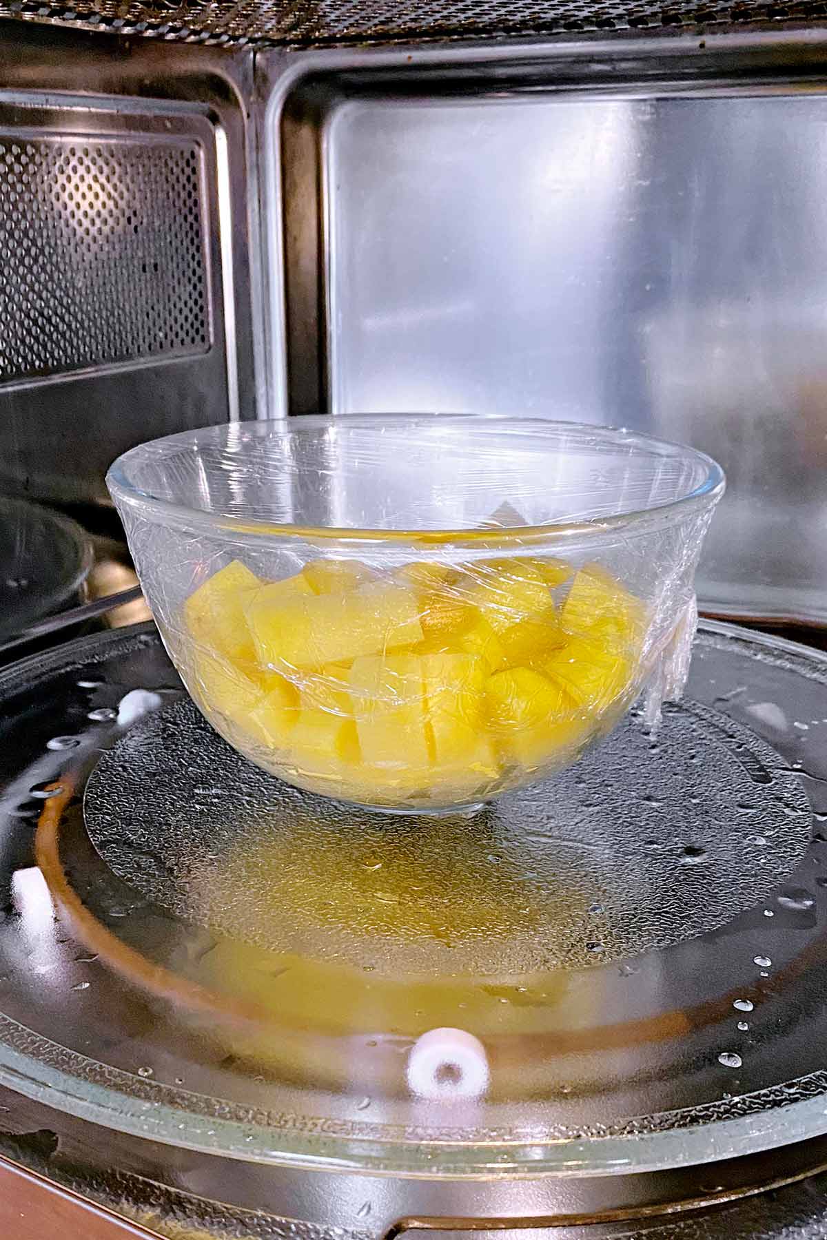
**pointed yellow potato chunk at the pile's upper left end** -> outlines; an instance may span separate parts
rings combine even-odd
[[[254,662],[244,606],[260,585],[255,573],[238,559],[213,573],[184,604],[186,625],[195,641],[236,663]]]

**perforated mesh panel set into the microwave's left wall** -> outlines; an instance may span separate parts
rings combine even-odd
[[[0,134],[0,382],[210,348],[201,149]]]

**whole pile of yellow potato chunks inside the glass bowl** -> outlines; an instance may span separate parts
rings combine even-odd
[[[301,786],[366,805],[484,797],[503,766],[574,758],[632,684],[643,605],[589,567],[558,615],[570,572],[492,559],[388,580],[315,560],[262,583],[233,562],[185,604],[187,682]]]

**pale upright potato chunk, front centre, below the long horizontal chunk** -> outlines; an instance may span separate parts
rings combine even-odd
[[[427,787],[428,748],[423,661],[418,655],[367,655],[350,673],[351,702],[366,766],[422,773]]]

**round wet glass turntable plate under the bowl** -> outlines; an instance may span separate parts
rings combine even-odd
[[[703,624],[686,701],[471,817],[252,768],[155,630],[0,676],[0,1081],[237,1158],[679,1167],[827,1132],[827,655]]]

